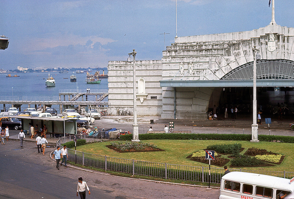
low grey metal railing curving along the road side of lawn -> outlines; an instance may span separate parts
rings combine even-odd
[[[61,138],[56,143],[61,145],[65,142],[72,141],[73,136]],[[93,142],[93,140],[86,140],[86,142]],[[103,155],[95,155],[68,149],[68,160],[76,162],[83,166],[99,168],[103,170],[116,171],[121,173],[129,173],[132,175],[151,176],[156,178],[165,178],[173,180],[187,180],[208,183],[209,182],[209,168],[196,167],[187,165],[174,165],[158,162],[146,162],[139,160],[130,160],[117,157],[108,157]],[[277,176],[281,178],[291,179],[294,177],[294,172],[280,172],[280,171],[261,171],[261,170],[242,170],[230,169],[230,171],[241,171],[248,173],[257,173],[264,175]],[[211,183],[220,184],[221,178],[224,175],[223,168],[211,168]]]

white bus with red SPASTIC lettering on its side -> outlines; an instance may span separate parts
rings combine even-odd
[[[286,199],[294,198],[293,193],[289,179],[236,171],[222,177],[219,199]]]

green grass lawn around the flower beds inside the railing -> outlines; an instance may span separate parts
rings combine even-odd
[[[208,145],[215,144],[234,144],[241,143],[245,148],[241,154],[243,154],[248,148],[256,147],[260,149],[266,149],[271,152],[285,155],[285,159],[280,165],[273,167],[248,167],[242,168],[245,170],[265,170],[265,171],[291,171],[294,172],[294,144],[293,143],[275,143],[275,142],[258,142],[252,143],[248,141],[223,141],[223,140],[143,140],[144,142],[150,142],[157,145],[160,149],[165,151],[157,152],[128,152],[119,153],[106,147],[110,145],[110,142],[97,142],[87,145],[76,147],[78,151],[87,153],[106,155],[109,157],[118,157],[124,159],[134,159],[149,162],[160,162],[177,165],[190,165],[190,166],[204,166],[208,167],[208,164],[194,162],[186,157],[198,150],[206,149]],[[228,155],[222,155],[227,157]],[[230,165],[230,162],[227,164]],[[216,166],[211,166],[218,168]],[[234,168],[238,169],[238,168]]]

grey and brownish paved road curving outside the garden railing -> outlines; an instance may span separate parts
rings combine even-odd
[[[77,198],[78,178],[88,184],[87,198],[218,198],[219,189],[172,185],[60,167],[48,148],[40,155],[34,142],[10,140],[0,150],[0,198]]]

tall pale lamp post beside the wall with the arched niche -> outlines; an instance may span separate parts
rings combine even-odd
[[[137,104],[136,104],[136,67],[135,56],[137,52],[133,49],[133,52],[129,53],[128,62],[133,62],[133,91],[134,91],[134,124],[133,124],[133,142],[139,142],[139,131],[137,124]],[[131,57],[133,55],[133,59]]]

